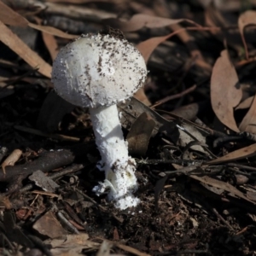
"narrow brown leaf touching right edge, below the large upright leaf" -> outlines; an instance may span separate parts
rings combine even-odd
[[[207,162],[207,165],[222,164],[224,162],[228,162],[231,160],[240,160],[243,158],[252,157],[254,155],[256,155],[256,143],[245,148],[237,149],[229,154],[225,154],[224,156],[219,157],[218,159],[211,160]]]

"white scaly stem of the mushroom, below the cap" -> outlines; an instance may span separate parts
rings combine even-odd
[[[102,156],[97,167],[105,171],[106,177],[94,191],[100,195],[109,188],[108,199],[115,201],[115,207],[136,207],[139,200],[132,195],[137,190],[136,162],[128,155],[117,106],[90,108],[90,119]]]

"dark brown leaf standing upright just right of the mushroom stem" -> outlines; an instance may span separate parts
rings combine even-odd
[[[131,129],[126,137],[131,154],[141,156],[146,154],[154,126],[154,119],[146,112],[143,112],[131,125]]]

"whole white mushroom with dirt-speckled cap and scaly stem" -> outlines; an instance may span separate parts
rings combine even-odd
[[[128,154],[117,102],[131,97],[147,76],[143,56],[124,38],[82,35],[60,50],[53,63],[52,82],[59,96],[90,109],[96,145],[102,156],[97,167],[105,181],[94,188],[97,195],[109,188],[115,207],[136,207],[136,162]]]

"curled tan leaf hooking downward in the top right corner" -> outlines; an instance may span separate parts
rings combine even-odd
[[[256,11],[247,10],[246,12],[242,13],[238,18],[238,28],[241,34],[242,43],[246,51],[247,59],[249,58],[249,54],[247,49],[247,42],[244,38],[244,28],[249,25],[256,25]]]

